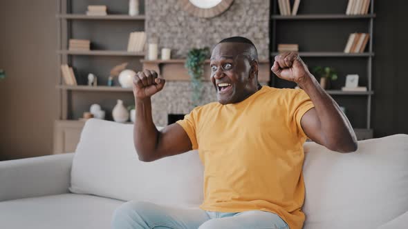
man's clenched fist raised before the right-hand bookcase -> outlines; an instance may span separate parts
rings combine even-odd
[[[271,70],[279,78],[293,81],[299,85],[312,77],[297,52],[284,52],[277,55]]]

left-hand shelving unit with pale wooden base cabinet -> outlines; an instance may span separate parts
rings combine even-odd
[[[89,5],[107,6],[106,16],[87,16]],[[112,120],[111,111],[117,99],[132,105],[131,88],[120,88],[118,79],[113,86],[107,86],[109,72],[113,66],[128,62],[127,68],[142,69],[140,59],[144,52],[127,52],[130,32],[145,30],[145,2],[139,1],[140,15],[129,16],[129,0],[58,0],[57,1],[57,86],[59,91],[59,119],[55,121],[54,153],[75,150],[80,131],[84,125],[83,112],[89,111],[93,103],[98,103],[106,111],[106,119]],[[91,50],[68,50],[69,39],[89,39]],[[78,86],[66,86],[59,67],[63,63],[75,68]],[[98,78],[98,86],[86,86],[87,75],[93,73]]]

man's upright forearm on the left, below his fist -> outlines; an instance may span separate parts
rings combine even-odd
[[[151,117],[151,99],[135,99],[136,117],[133,127],[133,142],[141,161],[154,159],[159,132]]]

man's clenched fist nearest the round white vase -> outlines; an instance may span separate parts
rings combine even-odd
[[[160,92],[165,86],[165,79],[158,78],[155,71],[144,70],[133,77],[133,94],[137,99],[145,99]]]

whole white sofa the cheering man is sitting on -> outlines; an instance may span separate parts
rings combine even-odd
[[[195,151],[144,163],[133,126],[91,119],[75,154],[0,161],[0,228],[110,228],[123,201],[197,208]],[[305,144],[305,229],[408,228],[408,135],[359,142],[340,154]]]

